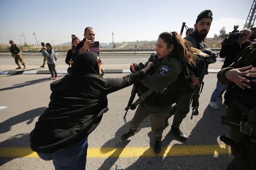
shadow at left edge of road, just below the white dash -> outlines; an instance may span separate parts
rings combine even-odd
[[[19,124],[21,122],[24,122],[24,121],[27,121],[27,125],[31,124],[36,117],[43,114],[45,109],[46,109],[46,107],[33,109],[30,111],[24,112],[22,114],[19,114],[17,116],[14,116],[10,119],[7,119],[4,122],[1,122],[0,123],[0,127],[1,127],[0,134],[10,131],[12,126]]]

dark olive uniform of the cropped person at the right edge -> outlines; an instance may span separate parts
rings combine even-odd
[[[227,70],[231,70],[234,68],[246,67],[249,65],[253,65],[255,67],[255,62],[256,62],[256,43],[253,43],[251,46],[248,46],[242,53],[240,53],[238,55],[238,57],[235,59],[234,63],[232,63],[229,67],[223,68],[222,70],[219,71],[219,73],[217,75],[218,80],[220,81],[221,84],[225,84],[225,85],[231,84],[232,82],[225,77],[225,72]],[[243,97],[239,98],[239,100],[241,100],[241,102],[239,102],[239,103],[249,103],[248,101],[246,101],[246,99],[248,99],[248,98],[251,99],[250,102],[252,102],[253,104],[256,103],[255,84],[253,84],[251,86],[252,89],[241,90],[240,94]],[[238,89],[240,89],[240,88],[238,88]],[[245,93],[248,90],[249,90],[249,95],[248,95],[248,93]],[[253,91],[254,91],[254,93],[253,93]],[[246,96],[244,96],[244,95],[246,95]],[[230,98],[230,96],[227,96],[227,99],[228,98]],[[226,96],[225,96],[225,100],[226,100]],[[232,105],[228,104],[228,107],[226,109],[226,114],[228,117],[231,117],[231,118],[241,121],[243,114],[245,112],[243,111],[244,109],[242,109],[242,107],[237,108],[236,106],[234,106],[233,104]],[[252,106],[252,105],[249,104],[249,106]],[[253,107],[255,107],[255,105]],[[255,108],[254,108],[254,110],[255,110]],[[249,115],[248,122],[250,122],[250,123],[254,124],[254,126],[256,126],[256,111]],[[234,140],[235,142],[241,143],[242,145],[246,146],[248,150],[253,151],[254,154],[256,155],[256,141],[254,143],[249,142],[249,136],[247,134],[241,132],[240,130],[238,130],[236,128],[230,127],[229,137],[232,140]],[[243,160],[245,157],[242,156],[232,146],[231,146],[231,151],[232,151],[232,154],[234,155],[234,158],[233,158],[232,162],[229,163],[229,166],[227,168],[228,170],[242,170],[242,169],[243,170],[247,170],[247,169],[251,170],[251,169],[253,169],[253,167],[256,169],[256,156],[254,156],[254,158],[253,158],[254,160],[252,160],[252,162],[254,162],[254,165],[248,165],[248,163],[246,163],[246,161]],[[251,155],[246,155],[246,156],[251,156]],[[248,159],[246,159],[246,160],[248,160]]]

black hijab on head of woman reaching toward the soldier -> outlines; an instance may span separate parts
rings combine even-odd
[[[72,74],[77,77],[81,74],[96,74],[99,75],[99,66],[97,63],[97,54],[84,51],[79,53],[72,66]]]

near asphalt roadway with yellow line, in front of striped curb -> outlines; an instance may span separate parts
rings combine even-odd
[[[145,56],[145,58],[147,57]],[[0,58],[2,59],[2,57]],[[33,58],[37,59],[37,57]],[[102,58],[114,60],[118,57],[102,56]],[[126,74],[105,74],[104,77],[122,77],[124,75]],[[63,75],[59,76],[61,78]],[[17,158],[1,156],[0,169],[54,169],[52,161],[33,158],[32,152],[28,150],[29,133],[34,128],[38,117],[48,106],[51,94],[49,85],[54,80],[49,80],[49,75],[40,74],[0,75],[0,80],[0,106],[7,107],[4,109],[0,107],[0,155],[15,155],[19,149],[27,149],[27,152],[23,152],[23,155],[17,156]],[[225,114],[226,108],[222,104],[222,99],[218,99],[219,110],[208,106],[210,95],[217,81],[216,74],[207,75],[204,81],[204,89],[199,99],[199,115],[194,116],[191,120],[190,112],[180,127],[188,136],[188,140],[182,142],[173,136],[169,132],[170,126],[164,130],[162,146],[163,150],[167,152],[167,156],[163,153],[158,155],[152,153],[154,137],[148,118],[144,120],[138,132],[129,138],[130,140],[123,142],[119,139],[122,133],[128,131],[130,121],[135,113],[129,110],[127,120],[124,122],[124,108],[127,106],[132,86],[109,94],[110,110],[104,114],[100,125],[89,135],[88,139],[89,149],[96,150],[98,148],[101,156],[90,156],[93,152],[91,150],[87,158],[86,169],[114,170],[116,164],[124,164],[128,170],[226,169],[232,155],[227,154],[225,148],[211,150],[206,154],[193,153],[193,148],[197,148],[198,153],[203,153],[204,150],[212,146],[223,146],[219,136],[228,135],[228,127],[221,125],[220,117]],[[169,119],[170,124],[172,119]],[[224,147],[228,148],[225,145]],[[8,150],[9,148],[11,150]],[[140,153],[142,148],[146,148],[146,150],[140,155],[134,156],[134,154]],[[125,149],[130,152],[126,152]],[[225,154],[221,154],[222,151]],[[183,154],[184,152],[186,154]],[[177,154],[173,156],[173,153]]]

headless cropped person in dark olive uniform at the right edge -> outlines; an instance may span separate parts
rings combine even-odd
[[[219,71],[221,84],[229,85],[225,93],[226,120],[229,122],[229,137],[233,140],[234,155],[227,170],[256,169],[256,43],[248,46],[235,61]],[[253,68],[254,67],[254,68]],[[242,126],[243,125],[243,126]],[[235,142],[235,144],[234,144]],[[231,143],[231,142],[229,142]]]

